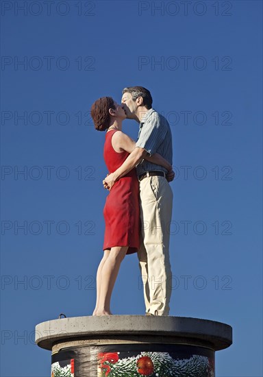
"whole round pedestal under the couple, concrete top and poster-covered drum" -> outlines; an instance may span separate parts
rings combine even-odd
[[[36,343],[52,350],[53,377],[214,377],[214,352],[231,345],[232,329],[186,317],[73,317],[38,324]]]

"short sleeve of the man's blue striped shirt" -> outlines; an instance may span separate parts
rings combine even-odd
[[[164,120],[160,119],[158,114],[151,114],[151,117],[142,125],[136,147],[145,149],[151,156],[164,141],[166,132]]]

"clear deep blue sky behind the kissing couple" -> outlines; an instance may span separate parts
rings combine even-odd
[[[36,324],[93,311],[107,169],[89,110],[134,85],[173,132],[171,315],[233,326],[218,377],[263,375],[261,30],[253,0],[1,2],[1,376],[49,376]],[[144,309],[127,256],[112,312]]]

